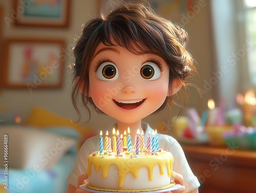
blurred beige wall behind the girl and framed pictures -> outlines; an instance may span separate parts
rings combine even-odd
[[[3,22],[3,40],[6,38],[62,38],[66,41],[66,48],[74,44],[74,37],[80,34],[81,24],[87,22],[95,16],[98,11],[98,1],[91,0],[72,0],[71,1],[70,26],[67,29],[59,28],[40,28],[40,27],[16,27],[11,25],[8,27]],[[1,1],[3,6],[3,16],[10,16],[12,1]],[[183,12],[174,22],[182,25],[189,34],[188,48],[195,57],[198,66],[199,76],[194,77],[192,83],[196,84],[202,94],[190,87],[189,101],[187,107],[197,108],[199,114],[207,108],[207,100],[215,98],[216,85],[206,88],[206,82],[212,76],[212,71],[215,70],[215,60],[212,44],[212,30],[210,18],[210,3],[209,0],[195,0],[193,6],[189,11]],[[3,19],[3,18],[2,18]],[[24,120],[32,108],[32,106],[42,106],[53,113],[63,117],[77,120],[77,114],[73,108],[70,92],[71,92],[71,71],[68,68],[69,64],[73,62],[73,55],[71,52],[67,53],[65,60],[63,87],[60,89],[34,89],[32,93],[28,89],[1,89],[0,91],[0,110],[8,110],[18,114]],[[3,60],[2,60],[3,61]],[[1,63],[1,66],[3,63]],[[87,114],[83,114],[83,120],[86,120]],[[173,108],[170,117],[178,114],[176,108]],[[1,117],[0,117],[1,118]],[[100,121],[99,121],[100,120]],[[165,109],[155,115],[150,115],[144,121],[150,123],[153,127],[164,123],[169,123],[168,110]],[[98,130],[109,127],[115,120],[105,115],[99,115],[92,112],[91,121],[85,126],[93,126]]]

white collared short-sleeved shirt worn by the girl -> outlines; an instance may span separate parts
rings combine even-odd
[[[144,142],[146,144],[148,133],[150,132],[152,134],[153,129],[147,123],[142,123],[142,128],[144,130]],[[157,136],[159,140],[159,148],[163,148],[163,150],[173,154],[173,170],[183,176],[184,186],[186,187],[185,191],[190,192],[197,189],[200,186],[200,183],[197,177],[191,171],[184,155],[183,149],[177,142],[177,140],[168,135],[157,134]],[[134,139],[132,139],[132,141],[133,140]],[[99,136],[88,139],[81,146],[77,157],[76,165],[74,166],[67,179],[67,182],[69,184],[77,187],[79,175],[86,173],[87,171],[87,157],[96,151],[99,151]]]

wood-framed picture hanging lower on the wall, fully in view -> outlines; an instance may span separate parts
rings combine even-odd
[[[60,88],[63,77],[63,40],[8,39],[5,44],[5,88]]]

